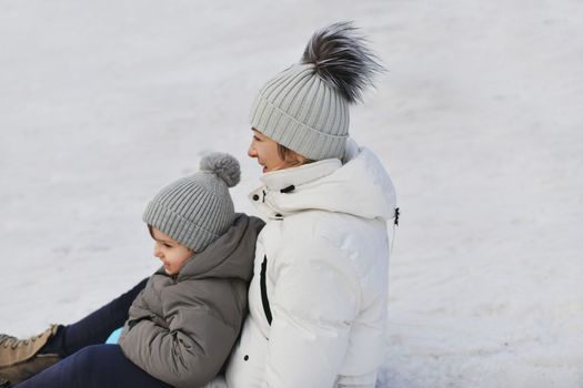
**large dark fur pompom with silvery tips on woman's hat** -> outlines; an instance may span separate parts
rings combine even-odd
[[[365,45],[365,39],[355,32],[352,22],[339,22],[316,31],[301,61],[312,63],[316,74],[350,103],[360,101],[364,89],[373,85],[374,74],[384,70]]]

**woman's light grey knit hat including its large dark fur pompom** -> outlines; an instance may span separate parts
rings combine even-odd
[[[341,159],[349,104],[383,68],[351,22],[316,31],[300,63],[270,80],[251,108],[251,127],[310,160]]]

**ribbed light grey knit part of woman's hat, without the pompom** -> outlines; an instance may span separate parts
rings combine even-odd
[[[314,161],[343,156],[349,120],[346,100],[313,64],[293,65],[269,81],[250,116],[251,127]]]

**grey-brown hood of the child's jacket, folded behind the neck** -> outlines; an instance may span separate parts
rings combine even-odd
[[[189,258],[177,280],[221,277],[249,282],[253,274],[257,237],[263,225],[260,218],[238,214],[221,237]],[[165,274],[164,267],[157,273]]]

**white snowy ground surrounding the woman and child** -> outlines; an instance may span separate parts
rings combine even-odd
[[[402,211],[380,387],[583,387],[581,0],[0,0],[0,333],[73,323],[159,263],[149,198],[239,156],[311,33],[389,72],[351,133]]]

